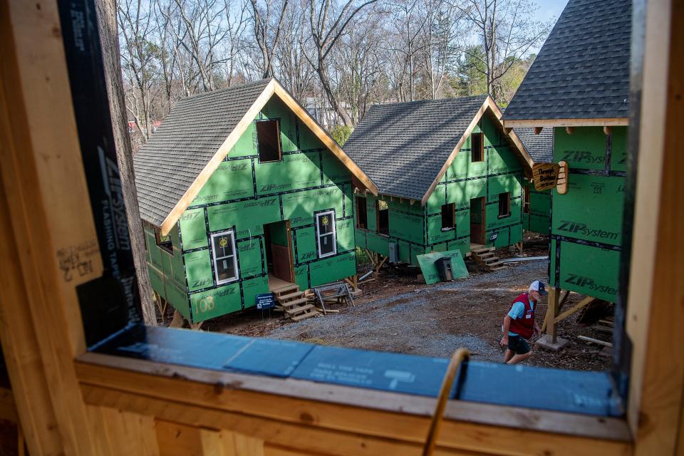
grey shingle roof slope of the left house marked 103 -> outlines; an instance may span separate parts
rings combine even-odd
[[[180,100],[133,158],[140,216],[160,226],[270,82]]]

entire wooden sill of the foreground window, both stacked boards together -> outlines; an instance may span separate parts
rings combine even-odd
[[[188,425],[239,430],[276,444],[279,438],[286,438],[283,432],[271,431],[280,425],[297,427],[293,431],[299,432],[303,441],[315,442],[324,431],[418,445],[425,440],[435,407],[434,398],[423,396],[100,353],[79,356],[76,374],[90,405]],[[459,400],[448,403],[438,445],[494,452],[500,450],[500,439],[524,440],[527,450],[535,454],[562,453],[568,445],[584,442],[581,445],[588,446],[583,454],[606,456],[626,454],[631,445],[626,421],[618,418]]]

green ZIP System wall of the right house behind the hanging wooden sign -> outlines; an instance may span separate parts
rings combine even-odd
[[[554,131],[554,162],[569,166],[568,192],[551,197],[549,283],[615,302],[622,243],[627,127]]]

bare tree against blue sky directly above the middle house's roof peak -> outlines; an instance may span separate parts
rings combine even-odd
[[[537,5],[530,0],[462,0],[455,6],[482,45],[484,56],[471,57],[482,61],[487,91],[499,99],[501,78],[516,59],[543,41],[550,24],[534,19]],[[462,47],[466,53],[469,49],[472,46]]]

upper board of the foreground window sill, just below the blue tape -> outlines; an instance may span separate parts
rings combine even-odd
[[[435,405],[433,398],[290,378],[260,377],[259,382],[254,382],[250,375],[203,371],[93,353],[81,358],[108,364],[78,362],[83,388],[92,385],[140,395],[149,395],[153,390],[155,397],[162,400],[182,398],[184,403],[200,407],[413,442],[425,439],[428,417]],[[217,385],[226,387],[217,388]],[[239,385],[239,388],[234,385]],[[274,392],[278,394],[274,395]],[[440,439],[454,438],[460,426],[456,422],[464,420],[474,421],[477,423],[475,426],[503,425],[512,427],[512,430],[546,430],[572,435],[589,432],[594,438],[628,439],[624,432],[626,425],[621,420],[457,401],[450,401],[447,405]]]

